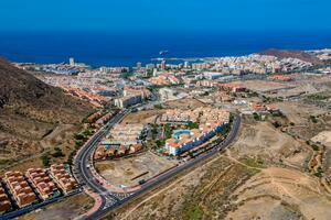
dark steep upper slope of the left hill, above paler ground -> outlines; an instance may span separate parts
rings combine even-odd
[[[0,109],[43,122],[78,123],[90,107],[0,59]]]

